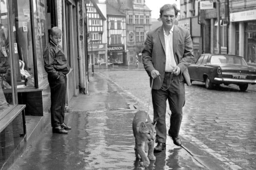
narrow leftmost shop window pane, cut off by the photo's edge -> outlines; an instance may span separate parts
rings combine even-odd
[[[0,1],[0,115],[12,104],[7,0]]]

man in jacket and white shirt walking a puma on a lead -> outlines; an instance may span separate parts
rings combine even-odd
[[[154,120],[156,120],[155,152],[166,148],[166,100],[170,110],[168,134],[175,145],[181,146],[179,138],[182,107],[185,104],[184,82],[191,85],[187,67],[192,63],[193,45],[188,29],[174,25],[178,16],[176,4],[160,8],[162,26],[150,31],[144,43],[142,59],[152,86]]]

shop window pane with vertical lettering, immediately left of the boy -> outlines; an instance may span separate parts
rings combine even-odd
[[[20,0],[19,0],[20,1]],[[26,0],[25,0],[26,1]],[[46,47],[46,10],[45,10],[45,0],[33,0],[34,5],[34,32],[36,39],[36,62],[37,62],[37,74],[38,74],[38,84],[47,80],[47,73],[44,70],[44,59],[43,53]]]

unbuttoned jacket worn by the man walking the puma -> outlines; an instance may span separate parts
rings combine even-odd
[[[174,25],[173,31],[173,53],[177,66],[180,67],[181,74],[188,86],[191,86],[190,76],[188,74],[188,66],[192,63],[193,43],[188,29]],[[143,65],[150,76],[152,70],[158,70],[160,78],[155,78],[153,82],[153,89],[159,90],[164,81],[165,63],[166,63],[166,49],[164,41],[163,26],[158,27],[154,31],[150,31],[144,43],[142,51]],[[152,78],[150,76],[150,84]]]

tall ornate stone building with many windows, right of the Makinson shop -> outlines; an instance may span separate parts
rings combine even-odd
[[[106,0],[126,15],[126,43],[128,64],[135,64],[136,59],[142,61],[146,34],[151,29],[151,10],[144,0]]]

